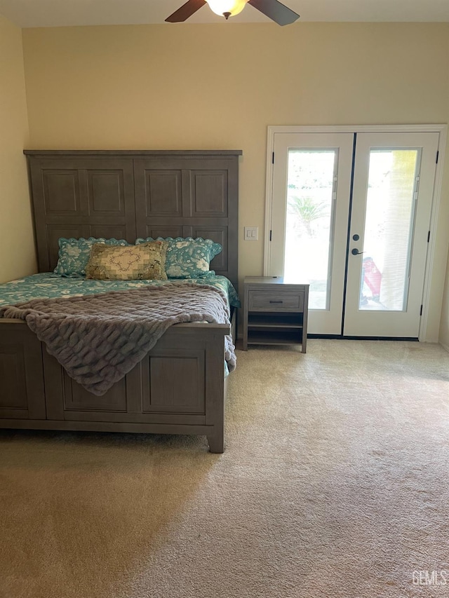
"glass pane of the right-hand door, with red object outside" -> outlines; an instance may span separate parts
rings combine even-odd
[[[406,311],[419,149],[372,149],[358,308]]]

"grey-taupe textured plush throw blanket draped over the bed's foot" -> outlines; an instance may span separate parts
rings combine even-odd
[[[0,317],[25,320],[81,386],[103,395],[142,360],[168,327],[180,322],[229,323],[227,298],[209,285],[170,283],[58,299],[33,299],[0,308]],[[234,345],[225,359],[235,368]]]

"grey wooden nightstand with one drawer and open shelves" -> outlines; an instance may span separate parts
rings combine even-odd
[[[281,277],[246,276],[243,298],[243,351],[248,345],[307,347],[309,285]]]

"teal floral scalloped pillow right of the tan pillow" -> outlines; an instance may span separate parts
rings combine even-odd
[[[210,261],[222,251],[220,243],[211,239],[198,237],[147,237],[138,238],[135,245],[148,241],[167,241],[166,273],[168,278],[199,278],[202,276],[215,276],[209,270]]]

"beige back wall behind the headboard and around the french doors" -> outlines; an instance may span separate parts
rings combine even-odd
[[[69,27],[23,39],[31,147],[243,149],[242,277],[262,273],[267,125],[449,119],[447,23]],[[429,340],[448,194],[446,176]],[[244,242],[243,226],[259,226],[260,240]]]

